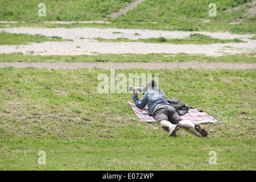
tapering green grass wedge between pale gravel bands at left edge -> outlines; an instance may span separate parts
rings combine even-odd
[[[5,31],[0,32],[0,45],[26,45],[29,43],[40,43],[46,41],[64,41],[64,39],[59,36],[48,37],[44,35],[10,34]]]

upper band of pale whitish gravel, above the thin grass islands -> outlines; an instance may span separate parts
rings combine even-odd
[[[0,28],[0,31],[6,31],[16,34],[41,34],[45,36],[60,36],[63,39],[79,39],[79,38],[104,38],[104,39],[148,39],[159,38],[163,36],[166,39],[184,39],[190,34],[204,34],[212,36],[216,39],[247,39],[255,36],[255,34],[231,34],[230,32],[189,32],[189,31],[164,31],[164,30],[143,30],[143,29],[122,29],[122,28]],[[119,33],[119,34],[113,34]],[[135,35],[135,33],[140,35]]]

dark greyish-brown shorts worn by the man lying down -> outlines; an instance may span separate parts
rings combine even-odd
[[[159,106],[152,114],[156,122],[163,120],[170,121],[172,124],[177,125],[182,119],[174,107],[169,105]]]

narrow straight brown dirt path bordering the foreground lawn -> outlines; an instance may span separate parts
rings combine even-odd
[[[255,63],[0,63],[0,68],[48,68],[48,69],[175,69],[175,68],[205,68],[205,69],[256,69]]]

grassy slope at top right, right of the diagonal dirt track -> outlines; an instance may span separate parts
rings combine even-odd
[[[157,22],[168,24],[170,29],[183,31],[255,32],[255,16],[247,15],[250,6],[236,12],[226,10],[251,1],[247,0],[148,0],[136,9],[119,16],[116,22]],[[209,3],[216,3],[217,16],[209,16]],[[232,25],[237,19],[243,24]],[[204,22],[204,20],[208,20]]]

